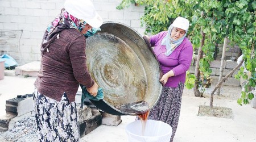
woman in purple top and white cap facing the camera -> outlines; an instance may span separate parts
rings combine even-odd
[[[187,39],[189,22],[177,17],[167,31],[148,37],[163,71],[163,91],[156,106],[150,110],[148,119],[160,120],[172,127],[173,141],[180,116],[181,96],[186,71],[191,65],[193,47]],[[138,119],[138,117],[137,117]]]

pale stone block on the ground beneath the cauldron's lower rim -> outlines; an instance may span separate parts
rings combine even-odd
[[[118,126],[121,122],[121,116],[112,115],[106,112],[101,112],[102,115],[102,124],[107,126]]]

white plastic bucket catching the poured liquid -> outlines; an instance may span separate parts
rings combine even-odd
[[[147,120],[144,136],[141,120],[127,124],[125,131],[129,142],[169,142],[172,136],[172,127],[156,120]]]

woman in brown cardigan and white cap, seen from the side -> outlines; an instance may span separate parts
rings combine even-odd
[[[34,93],[40,141],[79,141],[75,103],[79,83],[93,96],[98,91],[86,67],[85,36],[101,24],[92,2],[67,0],[59,17],[47,27]]]

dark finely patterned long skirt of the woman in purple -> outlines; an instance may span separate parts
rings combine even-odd
[[[180,82],[177,87],[164,86],[158,103],[148,114],[148,119],[162,121],[172,127],[172,136],[170,141],[173,141],[177,130],[177,124],[179,123],[183,89],[184,83],[182,82]],[[136,120],[139,120],[138,116]]]

